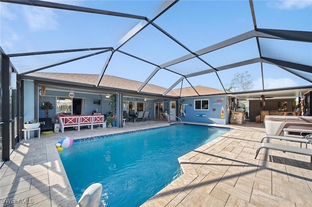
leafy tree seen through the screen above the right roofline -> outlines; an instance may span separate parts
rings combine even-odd
[[[247,91],[254,87],[253,77],[248,71],[235,73],[231,80],[229,91]]]

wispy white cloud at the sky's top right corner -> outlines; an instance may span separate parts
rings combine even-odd
[[[312,0],[275,0],[268,2],[268,6],[280,10],[304,9],[312,6]]]

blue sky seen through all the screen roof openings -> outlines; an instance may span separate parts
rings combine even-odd
[[[158,0],[54,0],[54,2],[147,17],[161,3]],[[113,47],[139,22],[137,19],[61,11],[5,2],[0,2],[0,7],[0,46],[6,53]],[[258,28],[312,31],[312,0],[254,0],[254,10]],[[181,0],[157,18],[155,23],[194,52],[254,29],[248,0]],[[264,38],[259,41],[263,56],[267,55],[312,66],[311,43]],[[189,53],[152,26],[148,26],[120,50],[157,65]],[[19,72],[23,72],[88,53],[90,52],[26,56],[11,58],[11,61]],[[108,53],[104,53],[43,71],[98,74],[102,70],[107,56]],[[216,68],[258,56],[255,38],[252,38],[204,54],[201,57]],[[105,74],[143,82],[155,68],[154,65],[115,52]],[[168,69],[188,74],[209,69],[209,67],[201,61],[193,59],[170,66]],[[236,72],[245,70],[248,70],[253,76],[253,89],[261,89],[260,64],[228,69],[220,71],[218,74],[223,84],[227,85]],[[311,85],[311,83],[271,64],[264,64],[263,73],[266,88]],[[278,73],[278,77],[274,73]],[[179,77],[179,75],[161,69],[150,83],[169,87]],[[215,73],[190,78],[190,80],[192,80],[193,86],[202,85],[221,89]]]

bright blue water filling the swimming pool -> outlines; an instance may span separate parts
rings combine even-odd
[[[137,207],[180,175],[177,158],[227,133],[228,128],[177,124],[74,142],[59,152],[78,201],[93,183],[108,207]]]

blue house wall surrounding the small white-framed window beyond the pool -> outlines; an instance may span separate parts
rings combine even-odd
[[[195,100],[209,100],[209,109],[196,110]],[[185,104],[185,116],[177,113],[182,121],[228,124],[230,118],[230,101],[228,96],[203,96],[196,98],[183,98],[178,100],[178,110],[181,104]],[[224,109],[224,117],[221,118],[221,109]]]

